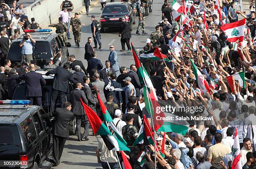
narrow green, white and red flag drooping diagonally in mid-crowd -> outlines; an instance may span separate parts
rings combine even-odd
[[[193,72],[195,74],[195,78],[197,81],[198,86],[200,87],[201,91],[203,93],[208,92],[210,94],[210,86],[208,85],[207,81],[205,80],[204,76],[202,76],[202,73],[197,69],[197,66],[195,66],[192,59],[189,59],[192,63]]]

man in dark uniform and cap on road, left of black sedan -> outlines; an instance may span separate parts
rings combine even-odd
[[[99,49],[101,49],[100,31],[98,30],[99,23],[98,23],[97,20],[95,20],[94,15],[91,16],[91,20],[92,20],[92,23],[91,23],[92,36],[93,36],[93,41],[94,41],[94,44],[95,44],[95,47],[93,47],[93,48],[97,49],[97,42],[98,42],[99,45],[100,45]]]

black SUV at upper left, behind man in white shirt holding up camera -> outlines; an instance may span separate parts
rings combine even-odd
[[[56,33],[30,33],[31,37],[36,40],[36,45],[33,53],[33,60],[36,60],[37,65],[43,67],[45,61],[54,57],[59,58],[59,51],[61,51],[61,66],[68,61],[70,43],[64,43],[61,37]],[[20,41],[23,40],[23,35],[20,38],[13,40],[7,54],[7,58],[13,63],[22,60]]]

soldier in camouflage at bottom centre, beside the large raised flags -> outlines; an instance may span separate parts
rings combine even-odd
[[[131,114],[125,117],[126,125],[122,128],[123,139],[127,142],[128,148],[131,150],[125,151],[125,153],[130,156],[129,162],[133,169],[141,169],[137,161],[137,156],[141,152],[139,145],[133,146],[135,139],[138,136],[138,129],[133,126],[133,116]]]

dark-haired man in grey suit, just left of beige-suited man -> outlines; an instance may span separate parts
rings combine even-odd
[[[90,77],[84,76],[84,88],[82,88],[82,90],[84,91],[84,94],[88,100],[88,106],[96,113],[96,103],[98,102],[98,99],[92,94],[89,84]]]

